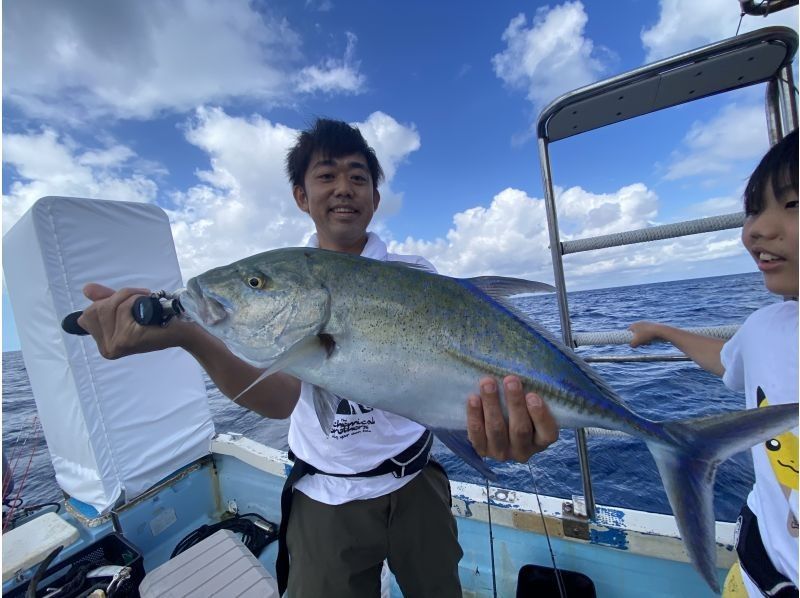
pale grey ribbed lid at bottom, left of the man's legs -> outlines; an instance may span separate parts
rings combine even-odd
[[[139,594],[142,598],[279,598],[275,578],[227,529],[145,575]]]

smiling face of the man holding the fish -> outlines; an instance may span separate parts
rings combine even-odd
[[[380,202],[361,153],[330,158],[314,152],[294,199],[317,228],[321,249],[361,253],[367,226]]]

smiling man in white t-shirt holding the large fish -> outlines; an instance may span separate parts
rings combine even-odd
[[[383,171],[358,129],[318,120],[298,136],[287,171],[298,208],[316,228],[311,246],[433,270],[424,258],[389,254],[377,235],[367,233],[380,203]],[[114,293],[90,284],[84,292],[94,303],[79,324],[107,358],[183,347],[229,397],[260,373],[192,323],[136,325],[130,307],[146,289]],[[509,425],[496,381],[484,378],[480,393],[468,397],[465,407],[469,437],[482,456],[526,461],[554,442],[558,429],[538,396],[524,396],[516,377],[503,383]],[[377,596],[386,559],[406,596],[461,596],[462,551],[447,477],[428,460],[430,433],[403,417],[342,398],[326,435],[317,423],[312,392],[311,385],[279,372],[239,400],[265,417],[291,416],[289,447],[296,461],[282,500],[282,548],[288,547],[291,567],[282,551],[277,567],[282,589],[288,568],[293,597]],[[398,462],[408,466],[397,469]]]

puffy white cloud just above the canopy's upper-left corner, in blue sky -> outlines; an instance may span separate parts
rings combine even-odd
[[[492,58],[495,74],[514,88],[523,89],[535,107],[598,80],[607,66],[585,36],[588,16],[581,2],[565,2],[536,11],[527,27],[524,14],[514,17],[503,33],[506,49]]]

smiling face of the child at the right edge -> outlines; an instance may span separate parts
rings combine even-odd
[[[776,197],[764,189],[764,209],[747,217],[742,243],[764,273],[764,284],[776,295],[797,297],[797,192]]]

